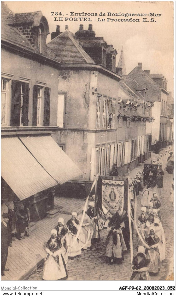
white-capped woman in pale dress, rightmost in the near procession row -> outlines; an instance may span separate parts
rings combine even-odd
[[[160,241],[158,244],[158,249],[159,249],[159,255],[161,261],[166,258],[166,247],[165,247],[165,234],[164,234],[164,229],[159,221],[159,218],[154,219],[154,226],[155,226],[155,234],[159,237]]]

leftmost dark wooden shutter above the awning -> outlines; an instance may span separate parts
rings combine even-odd
[[[11,126],[20,126],[21,81],[12,80]]]

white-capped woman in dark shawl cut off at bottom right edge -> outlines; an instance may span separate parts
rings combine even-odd
[[[150,260],[145,256],[145,248],[143,246],[138,247],[138,253],[133,258],[132,269],[133,273],[131,281],[150,281],[149,276],[149,263]]]

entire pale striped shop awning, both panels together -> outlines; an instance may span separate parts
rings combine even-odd
[[[19,200],[83,175],[51,136],[1,139],[1,175]]]

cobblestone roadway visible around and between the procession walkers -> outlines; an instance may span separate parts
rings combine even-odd
[[[164,171],[163,189],[161,189],[161,220],[166,237],[166,259],[162,261],[161,269],[157,275],[151,275],[151,280],[173,279],[173,255],[174,255],[174,208],[169,201],[170,189],[173,175]],[[140,213],[140,196],[138,197],[138,214]],[[65,221],[70,215],[62,214]],[[68,280],[129,280],[132,274],[130,264],[130,252],[124,254],[124,261],[120,265],[109,265],[105,262],[106,247],[105,240],[107,230],[100,232],[101,242],[92,247],[91,250],[84,250],[80,258],[73,261],[68,260]],[[135,248],[136,232],[133,237],[133,252]],[[45,239],[46,240],[46,239]],[[41,280],[43,267],[38,268],[26,280]]]

